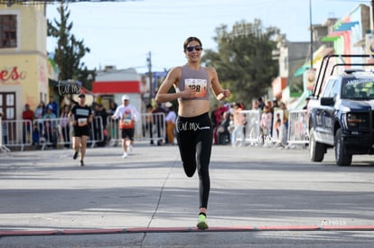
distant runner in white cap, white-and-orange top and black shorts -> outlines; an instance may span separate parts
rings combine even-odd
[[[128,152],[132,151],[134,144],[135,123],[138,119],[138,112],[135,106],[130,105],[130,98],[127,95],[122,96],[122,105],[117,106],[116,112],[112,115],[113,119],[119,119],[119,129],[121,130],[122,148],[126,158]]]

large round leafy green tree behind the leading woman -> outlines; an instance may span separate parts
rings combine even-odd
[[[276,42],[272,41],[278,30],[266,30],[259,20],[255,23],[235,23],[228,32],[227,25],[216,29],[218,51],[206,50],[201,61],[217,69],[222,86],[229,87],[232,99],[251,104],[253,98],[264,96],[267,87],[278,74],[278,63],[272,58]]]

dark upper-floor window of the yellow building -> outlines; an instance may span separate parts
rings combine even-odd
[[[17,15],[0,14],[0,48],[17,47]]]

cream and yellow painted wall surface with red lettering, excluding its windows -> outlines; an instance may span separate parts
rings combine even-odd
[[[0,49],[0,92],[15,91],[16,118],[48,97],[47,21],[44,4],[0,5],[0,14],[17,15],[17,47]],[[7,74],[9,73],[9,74]],[[8,77],[4,77],[4,75]]]

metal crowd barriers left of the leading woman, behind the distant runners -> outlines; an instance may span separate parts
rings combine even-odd
[[[101,116],[94,116],[89,124],[88,145],[104,146],[116,144],[122,140],[118,125],[119,120],[107,117],[106,122]],[[6,120],[1,122],[0,148],[20,147],[23,151],[25,146],[37,146],[42,150],[46,147],[70,147],[72,142],[72,124],[69,118],[45,118],[30,120]],[[142,114],[136,122],[136,141],[164,141],[165,115]]]

